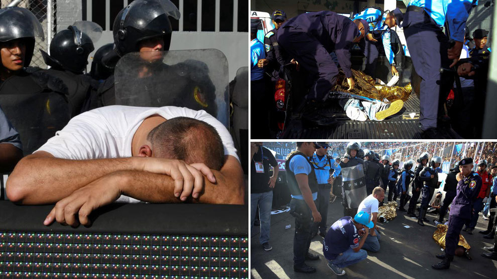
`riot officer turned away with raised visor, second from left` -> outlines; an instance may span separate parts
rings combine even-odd
[[[55,34],[50,42],[50,55],[40,50],[45,64],[52,68],[32,69],[33,72],[44,72],[64,81],[68,89],[71,117],[82,111],[85,100],[91,96],[91,90],[96,90],[98,86],[92,84],[90,77],[83,75],[88,64],[88,55],[94,49],[93,42],[86,33],[76,26],[69,26]]]

